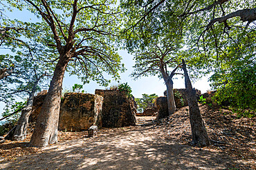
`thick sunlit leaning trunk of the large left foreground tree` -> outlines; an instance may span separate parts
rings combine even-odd
[[[53,79],[48,89],[48,94],[37,118],[37,124],[30,140],[30,145],[46,147],[57,142],[57,127],[60,114],[60,100],[62,96],[62,81],[69,58],[61,55]]]

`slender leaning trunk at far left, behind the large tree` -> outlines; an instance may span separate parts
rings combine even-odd
[[[26,138],[27,127],[28,127],[28,118],[29,118],[30,114],[32,113],[35,91],[37,89],[37,84],[38,84],[40,78],[37,78],[37,80],[35,81],[35,83],[33,85],[33,89],[29,94],[27,106],[21,110],[21,116],[19,117],[17,127],[15,129],[15,133],[11,137],[11,140],[25,140],[25,138]]]

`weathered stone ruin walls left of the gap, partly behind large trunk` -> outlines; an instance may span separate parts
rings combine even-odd
[[[34,98],[34,123],[42,108],[47,92],[40,92]],[[59,129],[84,131],[92,125],[100,127],[125,127],[136,125],[136,103],[125,92],[96,89],[94,94],[67,93],[60,107]]]

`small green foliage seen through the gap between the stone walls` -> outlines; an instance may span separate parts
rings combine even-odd
[[[154,105],[154,100],[158,96],[156,94],[143,94],[143,98],[135,98],[136,104],[138,106],[138,111],[143,113],[145,109],[148,107],[152,107]]]

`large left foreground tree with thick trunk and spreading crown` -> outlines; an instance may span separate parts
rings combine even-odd
[[[55,72],[44,100],[42,111],[30,144],[44,147],[57,142],[57,124],[64,72],[76,74],[83,83],[89,80],[107,85],[103,72],[118,78],[123,71],[116,53],[115,37],[120,26],[120,11],[116,1],[9,1],[19,9],[26,9],[42,19],[39,26],[42,41],[48,51],[44,60],[54,61]],[[37,36],[33,36],[35,38]]]

